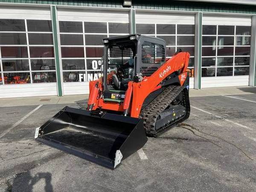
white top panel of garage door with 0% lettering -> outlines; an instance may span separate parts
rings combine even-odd
[[[109,21],[129,22],[128,12],[113,12],[83,9],[58,9],[58,20]]]

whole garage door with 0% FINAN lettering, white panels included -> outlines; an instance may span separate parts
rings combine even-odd
[[[102,38],[129,34],[129,12],[58,9],[64,95],[88,94],[98,79]]]

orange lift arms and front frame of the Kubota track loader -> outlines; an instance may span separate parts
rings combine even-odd
[[[180,85],[183,85],[186,77],[187,77],[187,67],[189,65],[189,53],[188,52],[180,52],[177,55],[174,55],[168,61],[166,61],[159,69],[154,72],[149,77],[144,77],[141,82],[129,82],[130,89],[128,89],[125,93],[125,109],[127,109],[130,105],[128,102],[130,99],[126,98],[126,96],[130,97],[130,93],[132,92],[131,99],[131,108],[130,108],[130,116],[138,118],[140,115],[140,110],[143,105],[145,98],[152,93],[153,91],[159,89],[161,86],[159,85],[161,81],[166,79],[167,76],[174,73],[175,71],[180,70]],[[99,83],[98,94],[95,94],[95,85]],[[131,89],[132,86],[132,89]],[[101,93],[103,91],[102,80],[90,81],[90,96],[89,101],[90,105],[93,105],[93,110],[97,108],[102,108],[105,110],[111,111],[124,111],[124,104],[114,103],[114,102],[104,102],[103,99],[100,98]],[[130,92],[130,93],[129,93]],[[95,101],[95,102],[94,102]],[[89,105],[89,102],[88,102]]]

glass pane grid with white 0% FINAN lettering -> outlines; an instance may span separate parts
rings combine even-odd
[[[59,21],[63,81],[101,77],[102,38],[128,34],[129,23]]]

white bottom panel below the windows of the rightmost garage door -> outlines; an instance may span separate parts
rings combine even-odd
[[[202,88],[248,86],[249,76],[202,77]]]

